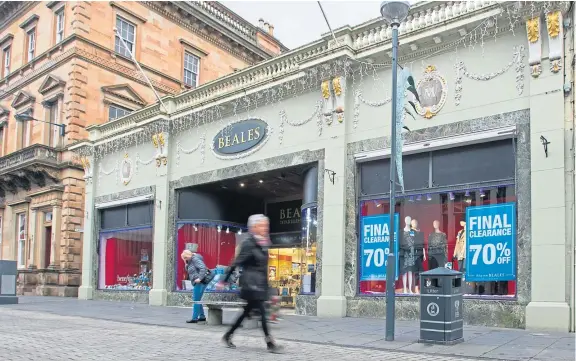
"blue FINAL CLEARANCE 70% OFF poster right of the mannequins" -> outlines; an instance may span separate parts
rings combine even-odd
[[[466,208],[466,280],[516,279],[516,204]]]

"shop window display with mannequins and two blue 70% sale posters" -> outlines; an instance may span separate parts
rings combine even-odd
[[[398,247],[396,293],[418,294],[421,272],[447,267],[464,273],[467,296],[515,297],[515,205],[513,185],[398,197],[395,207],[399,223],[395,238]],[[365,220],[378,215],[387,223],[388,213],[387,199],[362,201],[360,224],[370,227],[365,225],[369,223]],[[366,230],[373,231],[373,228]],[[360,232],[360,294],[383,295],[387,252],[382,251],[377,257],[378,252],[370,251],[370,247],[363,250],[362,242],[370,245],[379,239],[362,239],[363,230]],[[497,241],[491,241],[494,239]],[[371,253],[374,258],[370,260],[370,266],[376,261],[382,272],[375,273],[367,268],[367,256]],[[363,272],[370,273],[372,279],[363,276]]]

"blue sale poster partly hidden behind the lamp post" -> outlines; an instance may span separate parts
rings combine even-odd
[[[399,214],[394,214],[394,253],[398,256]],[[385,281],[390,254],[390,215],[380,214],[360,218],[360,280]],[[396,279],[398,279],[396,257]]]

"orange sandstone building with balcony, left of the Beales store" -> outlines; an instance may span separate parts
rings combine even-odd
[[[218,2],[0,2],[0,259],[21,294],[77,295],[84,172],[67,147],[156,101],[118,36],[165,96],[287,50],[273,29]]]

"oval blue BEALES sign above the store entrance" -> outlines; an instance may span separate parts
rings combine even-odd
[[[260,119],[246,119],[219,131],[212,141],[212,151],[220,158],[256,151],[267,140],[268,124]]]

